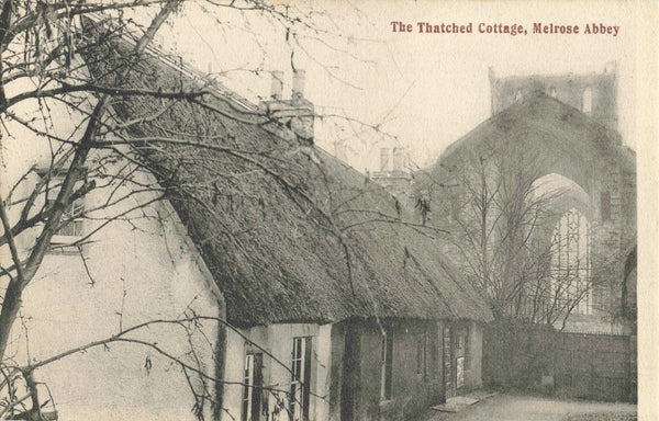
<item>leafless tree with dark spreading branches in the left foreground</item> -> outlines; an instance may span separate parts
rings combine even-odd
[[[0,248],[4,254],[0,261],[0,273],[7,281],[7,288],[0,310],[0,372],[3,375],[0,379],[3,397],[0,418],[52,418],[53,412],[46,407],[54,405],[54,398],[47,390],[44,396],[43,385],[35,380],[35,371],[75,353],[113,343],[150,349],[175,363],[190,383],[193,411],[199,418],[203,417],[209,405],[216,406],[214,411],[223,410],[213,396],[211,384],[223,383],[224,379],[221,373],[209,375],[192,344],[190,352],[181,356],[169,353],[155,341],[134,335],[147,327],[171,325],[181,329],[183,337],[191,338],[202,334],[200,325],[204,321],[216,322],[221,329],[241,334],[223,315],[208,317],[190,309],[190,314],[182,318],[150,320],[126,327],[121,316],[123,309],[120,309],[119,330],[107,339],[27,364],[19,364],[13,355],[8,355],[8,343],[16,321],[21,320],[25,288],[40,273],[49,251],[81,250],[113,221],[121,220],[141,229],[136,224],[141,218],[166,218],[150,212],[149,206],[168,198],[194,203],[209,218],[224,224],[222,234],[205,235],[226,236],[234,257],[259,270],[266,268],[267,262],[255,258],[242,237],[258,229],[254,223],[257,218],[246,219],[244,216],[255,216],[270,206],[268,197],[253,186],[272,184],[288,195],[320,231],[338,241],[344,252],[348,282],[354,287],[350,271],[356,259],[353,250],[355,241],[349,234],[373,221],[404,223],[400,208],[398,215],[353,208],[364,192],[355,192],[353,198],[343,197],[339,203],[331,197],[330,192],[325,198],[310,195],[305,169],[309,162],[317,164],[317,157],[309,147],[309,139],[283,138],[280,145],[236,140],[236,132],[239,132],[236,125],[277,132],[280,118],[271,110],[253,107],[232,96],[194,70],[176,62],[176,59],[165,56],[154,58],[154,54],[161,54],[150,46],[156,33],[182,3],[182,0],[2,2],[0,120],[9,136],[14,136],[12,130],[19,130],[29,134],[30,138],[38,138],[45,164],[25,168],[23,174],[1,180]],[[308,15],[294,14],[284,5],[261,1],[208,1],[204,7],[266,14],[287,32],[290,43],[301,44],[300,33],[292,30],[295,25],[305,27],[319,39],[328,34],[313,27],[306,20]],[[129,11],[142,9],[153,14],[145,26],[136,25],[127,18]],[[165,78],[154,77],[154,59],[169,60],[174,70]],[[293,61],[291,56],[294,70]],[[327,67],[326,70],[334,75],[333,68]],[[63,109],[66,111],[65,118],[72,122],[64,129],[60,124],[63,114],[57,111]],[[214,115],[222,115],[230,123],[217,124]],[[314,118],[317,115],[311,109],[297,117]],[[345,115],[323,117],[346,118]],[[359,125],[381,133],[376,124],[365,125],[354,120],[349,123],[353,127]],[[33,145],[26,148],[33,148]],[[199,171],[186,171],[189,166]],[[200,171],[204,174],[203,179],[199,178]],[[96,197],[93,206],[77,205],[92,196]],[[222,210],[231,215],[232,210],[241,207],[249,210],[236,217],[217,215]],[[342,219],[346,213],[357,210],[364,215],[360,220],[353,219],[346,224]],[[63,231],[77,232],[80,219],[92,221],[93,229],[72,242],[54,241]],[[405,224],[415,229],[422,228],[412,223]],[[200,239],[201,242],[204,240],[208,238]],[[80,254],[89,282],[93,284],[92,271],[81,251]],[[124,291],[124,297],[125,294]],[[208,345],[212,348],[210,342]],[[282,362],[275,363],[289,369]],[[146,372],[152,369],[148,357],[144,368]],[[192,382],[193,378],[197,383]],[[290,391],[276,385],[263,388],[279,402],[277,408],[281,411],[288,410],[284,401],[294,399]]]

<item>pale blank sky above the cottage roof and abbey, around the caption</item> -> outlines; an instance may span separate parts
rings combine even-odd
[[[316,112],[315,141],[348,162],[373,169],[382,145],[399,145],[426,167],[451,143],[490,117],[488,69],[498,76],[601,72],[615,61],[619,132],[635,148],[634,8],[626,2],[291,2],[304,24],[287,30],[254,11],[192,2],[165,27],[158,43],[199,70],[258,102],[270,71],[306,71],[305,96]],[[284,10],[280,7],[280,10]],[[412,33],[392,31],[392,21]],[[426,34],[417,22],[472,23],[472,34]],[[613,35],[533,34],[543,24],[619,26]],[[478,25],[522,24],[526,35],[479,34]],[[298,39],[299,42],[294,42]],[[340,117],[339,117],[340,116]]]

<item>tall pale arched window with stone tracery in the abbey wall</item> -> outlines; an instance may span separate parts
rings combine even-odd
[[[563,310],[590,315],[592,285],[590,224],[578,209],[566,212],[554,228],[551,293]]]

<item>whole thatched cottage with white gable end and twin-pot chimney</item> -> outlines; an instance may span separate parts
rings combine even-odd
[[[97,82],[112,87],[113,65],[130,43],[105,44],[99,34],[103,60],[85,59]],[[214,419],[400,419],[479,387],[482,325],[492,315],[438,252],[444,234],[315,147],[313,105],[303,98],[300,73],[291,100],[281,100],[275,76],[272,100],[260,105],[215,84],[202,87],[208,93],[194,102],[137,96],[113,103],[113,118],[139,121],[122,139],[177,141],[137,141],[125,152],[148,169],[133,185],[158,184],[135,195],[144,214],[138,221],[115,220],[93,243],[44,261],[55,293],[66,294],[67,282],[112,289],[104,292],[112,308],[90,298],[71,318],[88,318],[85,332],[93,338],[94,323],[110,330],[113,314],[120,327],[132,314],[136,321],[172,312],[219,316],[220,322],[203,320],[194,340],[149,330],[158,346],[211,345],[211,354],[186,354],[182,345],[177,352],[208,373],[183,374],[199,383],[188,385],[199,391],[193,412]],[[167,91],[204,82],[152,50],[135,61],[130,83]],[[103,161],[102,153],[97,159]],[[116,162],[104,166],[123,171]],[[139,224],[163,232],[147,235]],[[92,225],[78,228],[86,235]],[[112,286],[118,278],[119,289]],[[72,374],[76,365],[44,369],[57,386],[54,396],[65,390],[67,419],[94,411],[114,419],[185,418],[180,406],[189,389],[170,379],[176,369],[157,355],[110,356],[115,349],[93,355],[83,366],[102,378],[101,389],[94,377]],[[146,371],[145,390],[133,380],[135,362]]]

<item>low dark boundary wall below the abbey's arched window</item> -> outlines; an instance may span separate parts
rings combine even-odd
[[[611,401],[636,399],[636,338],[498,321],[485,329],[483,382],[500,389]]]

